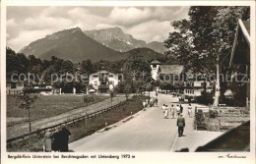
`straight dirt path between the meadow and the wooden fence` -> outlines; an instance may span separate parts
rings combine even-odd
[[[125,100],[125,97],[121,97],[121,96],[113,97],[112,105],[118,104],[124,100]],[[65,121],[72,120],[80,116],[84,116],[86,115],[86,112],[87,114],[91,114],[93,112],[105,109],[110,106],[111,106],[110,98],[107,98],[107,99],[104,99],[103,101],[97,102],[96,104],[92,104],[88,107],[74,109],[72,111],[62,113],[57,116],[33,121],[32,132],[39,129],[46,128],[46,127],[61,124]],[[22,124],[14,125],[12,127],[7,127],[7,138],[19,137],[25,134],[29,134],[29,123],[22,123]]]

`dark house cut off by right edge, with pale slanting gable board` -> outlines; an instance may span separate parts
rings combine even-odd
[[[243,74],[246,76],[241,84],[246,85],[246,105],[250,101],[250,21],[238,20],[229,66],[236,66],[233,75]]]

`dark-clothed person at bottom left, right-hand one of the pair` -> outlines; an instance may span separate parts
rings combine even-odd
[[[69,136],[71,135],[70,131],[67,130],[65,125],[61,125],[61,131],[59,133],[60,136],[60,151],[61,152],[68,152],[68,142],[69,142]]]

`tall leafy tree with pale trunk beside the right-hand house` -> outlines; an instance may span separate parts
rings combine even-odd
[[[194,49],[201,59],[197,62],[208,72],[216,74],[215,106],[219,104],[220,74],[228,66],[237,21],[248,19],[248,10],[248,7],[191,7],[189,10]],[[215,62],[209,64],[209,61]]]

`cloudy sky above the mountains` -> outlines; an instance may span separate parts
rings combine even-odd
[[[47,34],[72,27],[82,30],[121,27],[146,42],[163,41],[170,23],[188,19],[189,7],[7,7],[7,46],[20,51]]]

